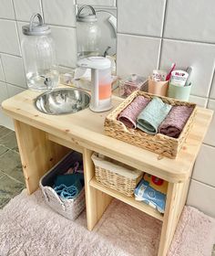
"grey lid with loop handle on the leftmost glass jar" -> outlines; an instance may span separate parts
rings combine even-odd
[[[39,23],[34,23],[35,18],[38,18]],[[23,34],[27,36],[43,36],[51,33],[51,28],[44,24],[44,20],[40,14],[31,16],[29,25],[23,26]]]

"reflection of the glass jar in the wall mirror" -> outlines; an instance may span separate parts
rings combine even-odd
[[[89,8],[91,13],[83,13],[86,8]],[[91,5],[81,6],[77,12],[77,58],[98,56],[100,37],[95,9]]]

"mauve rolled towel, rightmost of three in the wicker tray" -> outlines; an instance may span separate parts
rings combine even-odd
[[[159,133],[178,138],[192,111],[193,108],[188,106],[172,107],[167,118],[159,125]]]

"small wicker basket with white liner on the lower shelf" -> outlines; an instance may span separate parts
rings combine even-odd
[[[143,176],[141,171],[106,156],[98,156],[96,153],[92,155],[92,160],[95,165],[95,176],[99,183],[132,197]]]

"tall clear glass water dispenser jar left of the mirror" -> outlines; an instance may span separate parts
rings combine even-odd
[[[34,23],[36,17],[38,24]],[[28,88],[36,91],[55,88],[59,73],[50,27],[44,24],[42,16],[35,14],[31,17],[30,24],[22,28],[24,37],[21,47]]]

